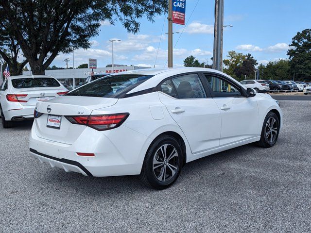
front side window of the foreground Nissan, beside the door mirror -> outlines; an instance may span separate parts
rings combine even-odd
[[[214,94],[214,97],[241,97],[240,87],[220,77],[206,74],[207,82]]]

